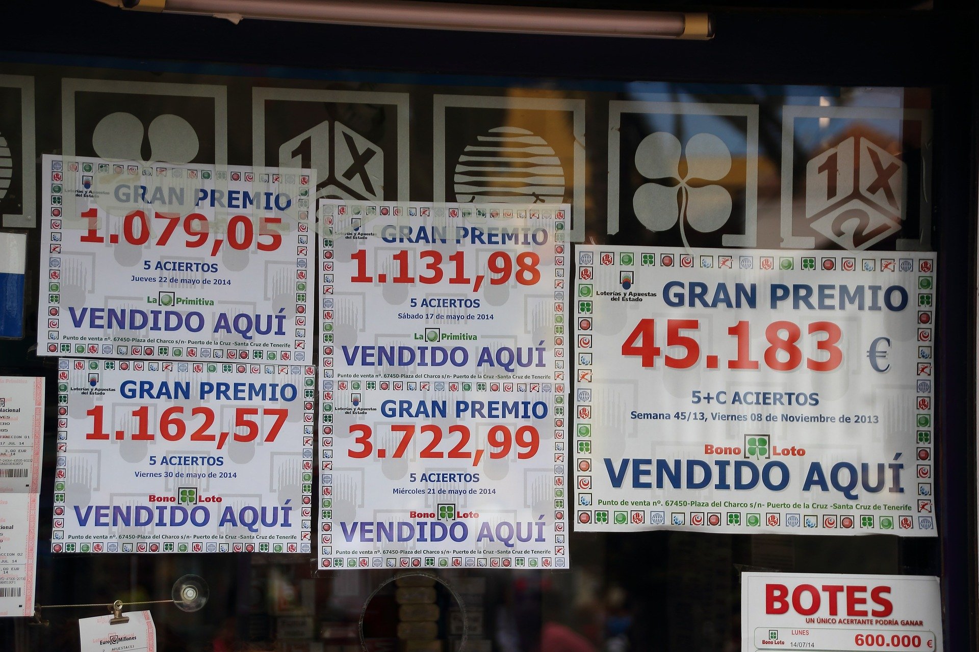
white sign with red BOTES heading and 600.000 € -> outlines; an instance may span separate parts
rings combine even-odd
[[[941,652],[936,577],[741,575],[741,650]]]

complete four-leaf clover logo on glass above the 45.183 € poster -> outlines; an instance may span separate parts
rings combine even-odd
[[[708,183],[721,181],[731,169],[730,150],[714,134],[695,134],[685,152],[673,134],[649,134],[636,148],[635,169],[650,181],[635,191],[632,208],[650,231],[667,231],[679,222],[680,236],[687,244],[684,221],[708,233],[720,229],[731,215],[730,193],[720,184]]]

